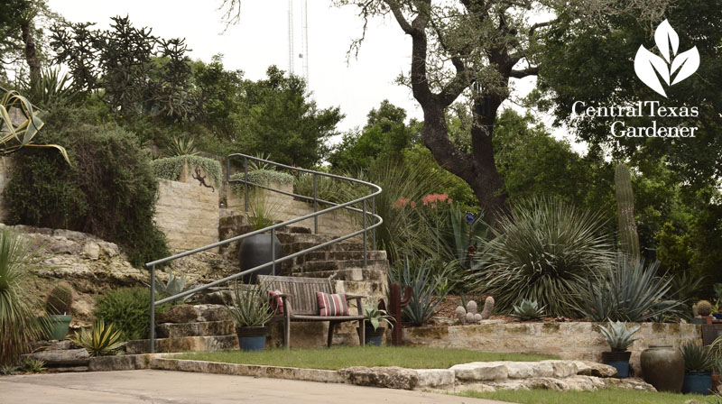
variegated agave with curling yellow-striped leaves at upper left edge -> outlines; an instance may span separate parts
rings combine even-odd
[[[22,117],[19,117],[22,116]],[[57,144],[33,144],[32,138],[44,123],[32,104],[17,91],[8,91],[0,101],[0,155],[12,154],[24,147],[52,147],[70,164],[68,152]]]

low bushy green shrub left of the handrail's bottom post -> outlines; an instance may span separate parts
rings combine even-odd
[[[156,294],[156,298],[160,299],[162,295]],[[117,326],[122,341],[147,338],[150,302],[151,291],[148,288],[110,290],[97,298],[96,317]],[[169,308],[170,303],[157,306],[155,314],[161,314]]]

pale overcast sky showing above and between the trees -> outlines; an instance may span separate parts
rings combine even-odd
[[[93,22],[98,28],[107,28],[112,16],[128,15],[136,27],[152,27],[157,36],[185,38],[193,59],[208,62],[222,53],[224,67],[243,70],[245,78],[264,78],[271,65],[289,69],[289,0],[242,1],[240,22],[222,34],[221,0],[49,0],[48,4],[73,23]],[[303,51],[302,0],[293,0],[293,4],[294,54],[298,56]],[[308,0],[309,51],[304,56],[308,58],[309,87],[317,105],[341,108],[346,117],[338,124],[340,132],[366,124],[368,112],[384,99],[403,107],[408,117],[421,120],[421,108],[411,90],[394,82],[410,69],[411,38],[391,17],[376,18],[368,24],[357,57],[349,58],[349,46],[360,37],[362,27],[355,6],[333,7],[327,0]],[[296,74],[302,73],[298,57],[294,67]],[[523,95],[533,83],[533,78],[526,78],[514,87]],[[506,106],[521,109],[511,103]],[[540,118],[550,126],[551,118]],[[563,133],[555,131],[555,135],[561,137]]]

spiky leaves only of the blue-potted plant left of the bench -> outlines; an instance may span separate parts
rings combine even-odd
[[[234,284],[233,301],[234,304],[227,306],[227,310],[236,326],[265,326],[273,318],[263,285]]]

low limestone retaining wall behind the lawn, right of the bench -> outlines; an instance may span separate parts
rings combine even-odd
[[[433,326],[403,329],[405,344],[440,348],[468,348],[488,352],[551,353],[561,359],[601,362],[609,345],[599,333],[601,323],[502,323],[487,320],[473,326]],[[630,363],[640,374],[639,355],[650,345],[679,348],[687,342],[701,343],[701,326],[692,324],[640,323],[634,335]]]

